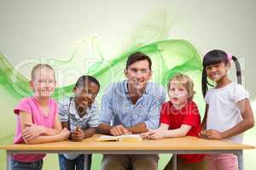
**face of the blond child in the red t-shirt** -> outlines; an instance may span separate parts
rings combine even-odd
[[[168,94],[172,105],[176,106],[177,108],[186,104],[189,99],[189,93],[187,89],[176,80],[172,80],[170,82]]]

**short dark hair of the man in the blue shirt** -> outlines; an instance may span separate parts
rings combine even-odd
[[[151,65],[152,65],[152,61],[151,59],[148,57],[148,55],[143,54],[142,52],[136,52],[134,54],[131,54],[129,56],[129,58],[126,61],[126,70],[128,69],[128,67],[130,65],[132,65],[133,63],[140,61],[140,60],[147,60],[148,64],[149,64],[149,70],[151,71]]]

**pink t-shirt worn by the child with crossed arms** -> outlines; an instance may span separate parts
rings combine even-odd
[[[20,126],[20,111],[32,114],[32,123],[36,125],[43,125],[44,127],[53,128],[55,125],[55,116],[58,111],[58,106],[55,103],[54,99],[48,100],[49,105],[49,114],[44,116],[42,110],[40,109],[40,104],[35,97],[28,97],[20,100],[19,105],[15,108],[14,112],[17,115],[17,125],[14,144],[25,144],[24,139],[21,135],[21,126]],[[32,162],[38,161],[44,158],[45,154],[14,154],[13,159],[16,161]]]

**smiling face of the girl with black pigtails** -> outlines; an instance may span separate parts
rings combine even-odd
[[[219,82],[223,77],[227,76],[227,72],[230,69],[230,63],[225,64],[224,62],[220,62],[214,65],[207,65],[205,69],[207,77],[209,77],[213,82]]]

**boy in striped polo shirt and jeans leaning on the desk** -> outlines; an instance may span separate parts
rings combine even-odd
[[[98,107],[95,102],[100,89],[100,83],[94,77],[82,76],[73,88],[74,97],[63,99],[59,103],[59,117],[62,127],[71,131],[73,141],[82,141],[96,133],[98,126]],[[88,159],[87,159],[88,158]],[[60,154],[59,162],[61,170],[84,169],[85,165],[90,169],[91,155]]]

